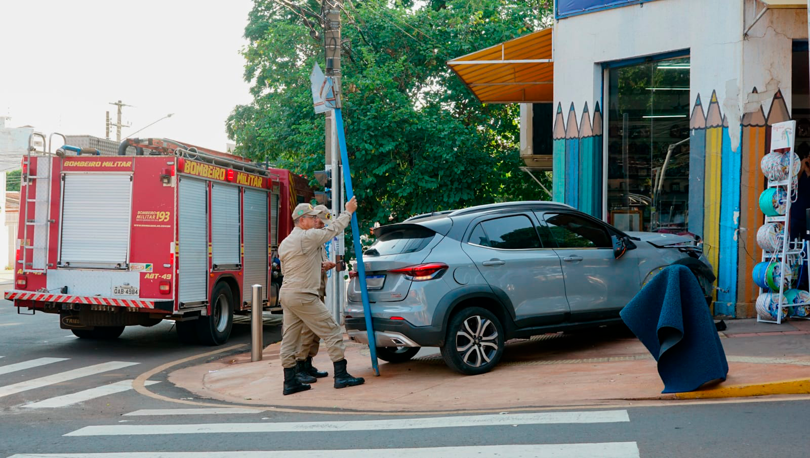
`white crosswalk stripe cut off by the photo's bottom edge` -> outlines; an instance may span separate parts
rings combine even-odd
[[[206,458],[282,458],[292,451],[205,452]],[[542,443],[534,445],[475,445],[464,447],[366,448],[351,450],[301,450],[308,458],[467,458],[468,456],[509,456],[509,458],[638,458],[635,442]],[[123,453],[21,453],[9,458],[198,458],[200,452],[123,452]]]

